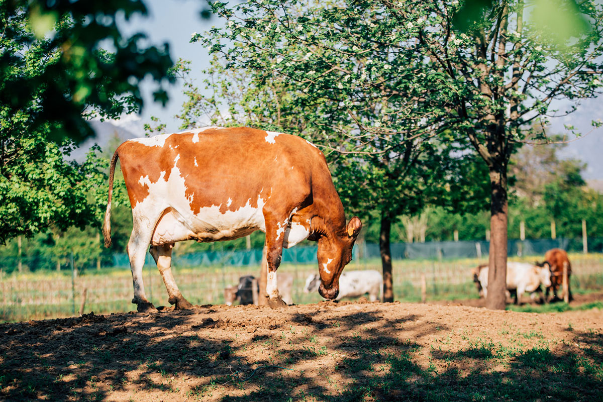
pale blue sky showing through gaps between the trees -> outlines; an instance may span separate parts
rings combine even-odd
[[[168,42],[172,60],[178,58],[192,61],[191,76],[201,84],[201,70],[209,66],[209,54],[200,43],[189,43],[193,33],[202,33],[209,30],[212,25],[220,25],[216,17],[202,19],[200,12],[206,5],[204,0],[146,0],[149,10],[146,18],[135,17],[125,22],[123,27],[126,33],[142,31],[154,45]],[[143,136],[142,124],[150,123],[151,116],[158,117],[166,124],[166,132],[179,131],[180,123],[174,115],[180,111],[186,100],[182,94],[182,83],[177,83],[168,89],[169,103],[164,108],[154,103],[151,98],[154,83],[145,81],[142,89],[145,98],[145,107],[140,116],[130,116],[122,119],[118,125],[127,127],[128,130],[139,131]],[[563,105],[558,105],[563,110]],[[603,158],[599,153],[603,151],[603,128],[593,130],[591,121],[603,119],[603,98],[586,99],[581,102],[576,112],[564,118],[552,119],[552,133],[563,133],[564,125],[574,125],[578,131],[587,134],[584,139],[579,139],[568,144],[563,150],[565,157],[585,160],[589,167],[584,172],[586,178],[603,179]]]

